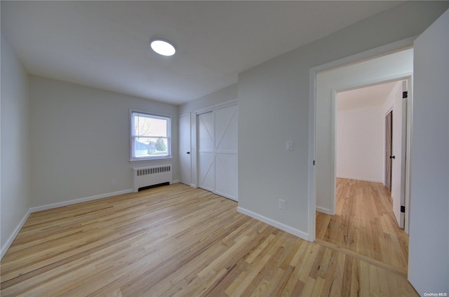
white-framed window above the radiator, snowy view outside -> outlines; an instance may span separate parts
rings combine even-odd
[[[170,157],[170,117],[131,111],[131,160]]]

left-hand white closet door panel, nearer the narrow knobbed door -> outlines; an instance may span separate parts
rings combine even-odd
[[[213,111],[198,116],[199,187],[215,191],[215,125]]]

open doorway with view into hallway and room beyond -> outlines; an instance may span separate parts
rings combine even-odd
[[[393,208],[397,205],[384,185],[384,160],[390,153],[385,150],[384,120],[390,111],[392,127],[398,111],[403,111],[403,120],[407,120],[410,110],[406,104],[405,111],[402,104],[394,108],[394,95],[402,95],[401,81],[410,85],[412,72],[410,49],[316,74],[316,240],[399,273],[407,271],[408,235],[396,221]],[[358,94],[345,102],[346,106],[339,106],[339,100],[351,91],[375,88],[382,83],[390,86],[386,96],[377,97],[380,102],[363,105]],[[398,100],[401,103],[402,97]],[[349,130],[355,134],[348,134]],[[399,130],[405,131],[404,135],[408,133],[406,129]],[[398,139],[405,141],[401,133]],[[337,138],[339,134],[342,139]],[[396,148],[402,152],[406,146]],[[394,149],[392,144],[388,158],[395,155]],[[406,180],[406,174],[401,177],[406,163],[403,165],[398,166],[399,198],[406,192],[402,180]],[[400,212],[401,205],[398,209]]]

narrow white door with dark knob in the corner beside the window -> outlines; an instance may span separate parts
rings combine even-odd
[[[192,184],[192,155],[190,153],[190,113],[180,116],[179,119],[179,139],[180,139],[180,182],[190,186]]]

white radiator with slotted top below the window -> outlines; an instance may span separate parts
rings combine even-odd
[[[134,192],[138,192],[139,188],[167,182],[172,182],[171,164],[134,168]]]

